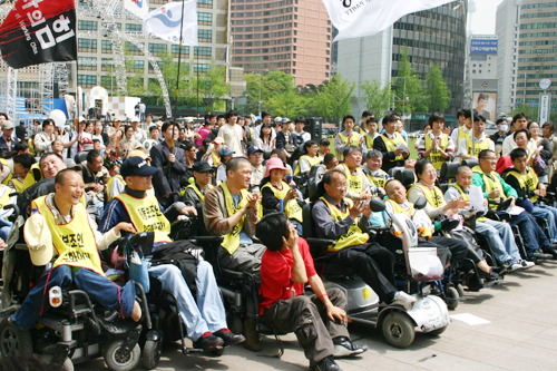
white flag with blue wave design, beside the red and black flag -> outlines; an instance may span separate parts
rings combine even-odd
[[[196,0],[184,2],[182,14],[182,1],[169,2],[155,9],[143,20],[143,32],[148,36],[179,43],[179,29],[182,30],[182,45],[197,46],[197,3]]]

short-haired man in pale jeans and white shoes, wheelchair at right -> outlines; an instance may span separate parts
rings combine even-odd
[[[444,193],[444,199],[447,202],[460,197],[465,201],[470,199],[469,193],[472,178],[472,170],[468,166],[460,166],[457,170],[457,183],[449,186]],[[488,201],[486,198],[483,201],[485,206],[488,206]],[[495,258],[502,263],[510,272],[529,269],[535,265],[534,262],[524,261],[520,256],[512,228],[508,223],[480,217],[476,219],[476,233],[487,240],[495,254]]]

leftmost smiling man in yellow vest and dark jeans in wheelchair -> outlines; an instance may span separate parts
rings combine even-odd
[[[119,287],[109,281],[102,272],[97,251],[107,248],[119,238],[120,231],[135,233],[136,230],[129,223],[118,223],[104,235],[96,232],[97,225],[80,202],[85,192],[81,175],[72,169],[62,169],[56,175],[55,182],[55,194],[32,202],[33,215],[27,221],[26,228],[33,228],[36,233],[48,228],[51,233],[51,240],[29,246],[31,261],[36,265],[50,262],[52,245],[58,257],[8,321],[22,331],[32,329],[40,315],[50,309],[49,290],[70,285],[85,291],[102,306],[117,310],[123,318],[130,316],[139,321],[141,309],[135,300],[134,283],[130,281]]]

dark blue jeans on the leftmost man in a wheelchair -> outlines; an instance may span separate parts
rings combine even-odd
[[[39,279],[21,307],[11,316],[11,323],[19,330],[31,330],[37,320],[51,307],[48,299],[49,290],[53,286],[65,290],[74,285],[85,291],[100,305],[119,311],[123,316],[130,316],[134,311],[136,295],[133,281],[119,287],[107,277],[87,269],[80,269],[71,274],[70,266],[59,265]]]

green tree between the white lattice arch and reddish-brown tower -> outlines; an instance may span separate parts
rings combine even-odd
[[[223,98],[226,92],[231,90],[231,85],[226,82],[226,68],[224,66],[218,66],[213,59],[206,71],[199,71],[197,89],[199,89],[205,109],[214,110],[217,100]]]

